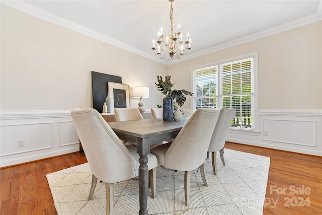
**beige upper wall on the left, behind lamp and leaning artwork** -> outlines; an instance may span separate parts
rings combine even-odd
[[[149,87],[146,108],[162,102],[154,82],[167,65],[1,5],[1,110],[92,107],[92,70]]]

